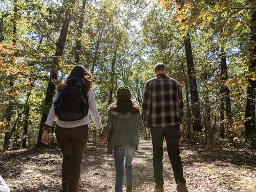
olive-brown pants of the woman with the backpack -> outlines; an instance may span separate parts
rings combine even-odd
[[[78,191],[80,165],[88,141],[88,124],[64,128],[56,125],[56,138],[63,154],[62,183],[69,183],[69,191]]]

